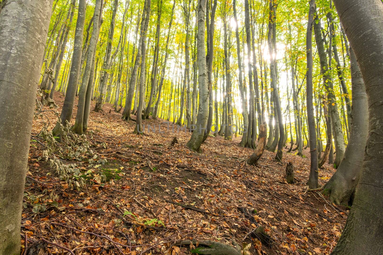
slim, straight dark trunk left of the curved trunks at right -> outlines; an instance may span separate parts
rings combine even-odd
[[[313,106],[313,23],[314,23],[315,0],[310,0],[307,33],[306,33],[306,107],[307,124],[309,129],[310,143],[310,174],[308,180],[309,189],[318,187],[318,149],[317,134],[315,128]]]

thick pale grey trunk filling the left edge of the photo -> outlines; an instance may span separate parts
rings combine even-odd
[[[0,14],[0,254],[20,254],[20,219],[52,1],[7,0]],[[16,28],[16,29],[15,29]]]

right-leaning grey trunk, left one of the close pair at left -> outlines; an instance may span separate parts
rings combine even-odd
[[[59,121],[53,128],[52,132],[54,135],[58,135],[60,132],[60,124],[65,125],[66,122],[70,122],[73,114],[74,99],[77,89],[77,83],[80,76],[80,64],[82,56],[82,40],[85,23],[85,11],[86,11],[86,0],[79,0],[79,11],[77,14],[77,23],[74,36],[74,47],[72,54],[72,63],[70,65],[70,73],[68,85],[65,93],[64,104],[62,106]]]

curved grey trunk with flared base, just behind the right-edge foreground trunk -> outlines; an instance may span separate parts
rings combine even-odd
[[[368,133],[368,105],[365,85],[356,57],[350,48],[352,110],[350,140],[337,171],[323,187],[323,194],[329,195],[336,204],[352,204],[355,187],[363,164],[363,154]]]

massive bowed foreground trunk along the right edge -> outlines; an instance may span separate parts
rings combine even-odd
[[[380,0],[334,3],[362,73],[369,124],[354,203],[332,254],[383,254],[383,4]]]

